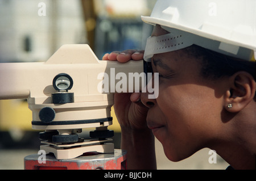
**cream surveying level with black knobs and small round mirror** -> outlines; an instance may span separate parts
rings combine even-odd
[[[118,73],[127,75],[119,83],[121,90],[115,81]],[[113,131],[108,126],[114,93],[124,87],[131,90],[131,85],[133,91],[141,90],[129,73],[143,73],[143,61],[100,61],[89,45],[63,45],[46,62],[0,64],[0,99],[27,99],[32,129],[43,130],[40,150],[57,160],[92,151],[113,154],[114,145],[109,143]],[[144,85],[141,78],[139,85]],[[92,139],[79,137],[83,128],[96,128],[90,132]]]

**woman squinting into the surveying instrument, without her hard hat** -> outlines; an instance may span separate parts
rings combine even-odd
[[[167,30],[157,24],[151,36]],[[102,59],[141,60],[143,53],[125,50]],[[255,169],[255,62],[193,44],[154,53],[151,65],[159,73],[158,98],[148,99],[147,92],[114,97],[128,169],[156,168],[154,136],[171,161],[210,148],[233,169]]]

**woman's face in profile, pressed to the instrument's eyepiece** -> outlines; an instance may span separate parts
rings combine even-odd
[[[156,27],[152,36],[167,33]],[[186,50],[155,54],[152,69],[159,73],[159,96],[141,100],[149,107],[147,125],[171,161],[180,161],[214,141],[221,124],[221,82],[200,75],[200,60]],[[154,82],[154,81],[152,81]]]

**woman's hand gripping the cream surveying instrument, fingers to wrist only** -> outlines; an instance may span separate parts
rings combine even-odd
[[[106,53],[102,60],[127,62],[142,60],[144,50],[125,50]],[[125,65],[123,65],[125,66]],[[141,103],[141,93],[119,93],[114,95],[114,110],[121,128],[147,129],[148,108]]]

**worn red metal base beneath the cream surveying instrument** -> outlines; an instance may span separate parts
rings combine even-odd
[[[53,155],[33,154],[24,158],[25,170],[124,170],[126,151],[115,149],[113,154],[82,155],[73,159],[56,159]],[[43,162],[43,163],[40,163]]]

